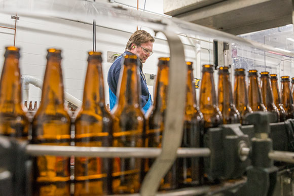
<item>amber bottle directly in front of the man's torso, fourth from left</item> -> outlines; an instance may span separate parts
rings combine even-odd
[[[138,59],[125,55],[118,84],[118,101],[113,108],[114,147],[142,147],[144,115],[139,105],[140,82]],[[112,190],[114,194],[134,193],[140,188],[141,159],[113,160]]]

